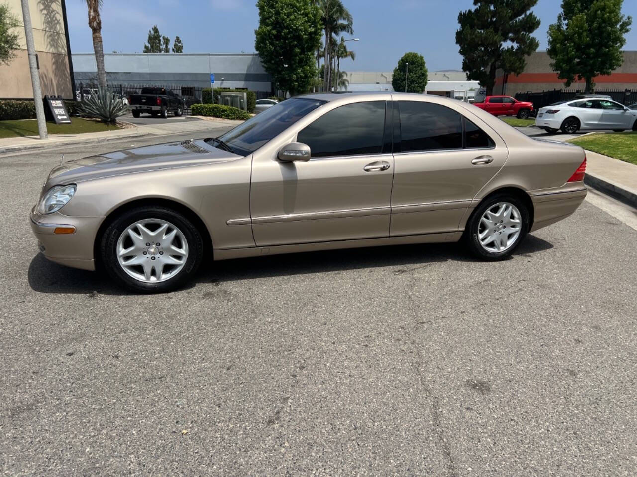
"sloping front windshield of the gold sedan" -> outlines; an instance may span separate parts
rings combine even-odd
[[[234,153],[247,156],[325,103],[317,99],[286,99],[229,130],[219,139]]]

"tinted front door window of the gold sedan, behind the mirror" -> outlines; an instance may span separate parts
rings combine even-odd
[[[347,104],[323,114],[297,134],[312,157],[378,154],[383,147],[385,101]]]

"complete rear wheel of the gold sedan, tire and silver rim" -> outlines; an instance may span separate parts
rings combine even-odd
[[[529,228],[529,211],[517,197],[496,194],[471,214],[465,240],[469,251],[483,260],[502,260],[518,247]]]

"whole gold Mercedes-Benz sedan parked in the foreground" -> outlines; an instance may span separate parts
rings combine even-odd
[[[575,211],[585,167],[582,148],[457,100],[322,93],[218,138],[62,163],[31,226],[48,259],[146,292],[180,286],[207,257],[462,239],[497,260]]]

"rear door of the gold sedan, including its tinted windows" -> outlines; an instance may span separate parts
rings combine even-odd
[[[478,191],[504,165],[505,142],[464,108],[426,101],[394,104],[399,126],[390,234],[455,232]]]

